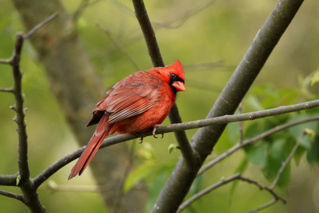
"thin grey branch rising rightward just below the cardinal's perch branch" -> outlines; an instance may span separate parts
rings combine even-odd
[[[299,125],[299,124],[302,124],[302,123],[315,121],[315,120],[319,120],[319,116],[304,118],[304,119],[300,119],[300,120],[297,120],[297,121],[292,121],[292,122],[289,122],[289,123],[286,123],[286,124],[283,124],[283,125],[280,125],[280,126],[276,126],[276,127],[272,128],[270,130],[267,130],[267,131],[265,131],[263,133],[260,133],[260,134],[256,135],[253,138],[247,139],[247,140],[243,141],[242,143],[237,143],[232,148],[229,148],[228,150],[226,150],[225,152],[223,152],[222,154],[220,154],[219,156],[217,156],[216,158],[211,160],[209,163],[207,163],[204,166],[202,166],[202,168],[198,171],[197,176],[203,174],[206,170],[210,169],[212,166],[214,166],[215,164],[217,164],[218,162],[222,161],[224,158],[230,156],[236,150],[238,150],[238,149],[240,149],[240,148],[242,148],[244,146],[252,144],[252,143],[254,143],[256,141],[259,141],[259,140],[261,140],[261,139],[263,139],[263,138],[265,138],[265,137],[267,137],[267,136],[269,136],[271,134],[274,134],[276,132],[285,130],[285,129],[289,128],[289,127],[296,126],[296,125]]]

